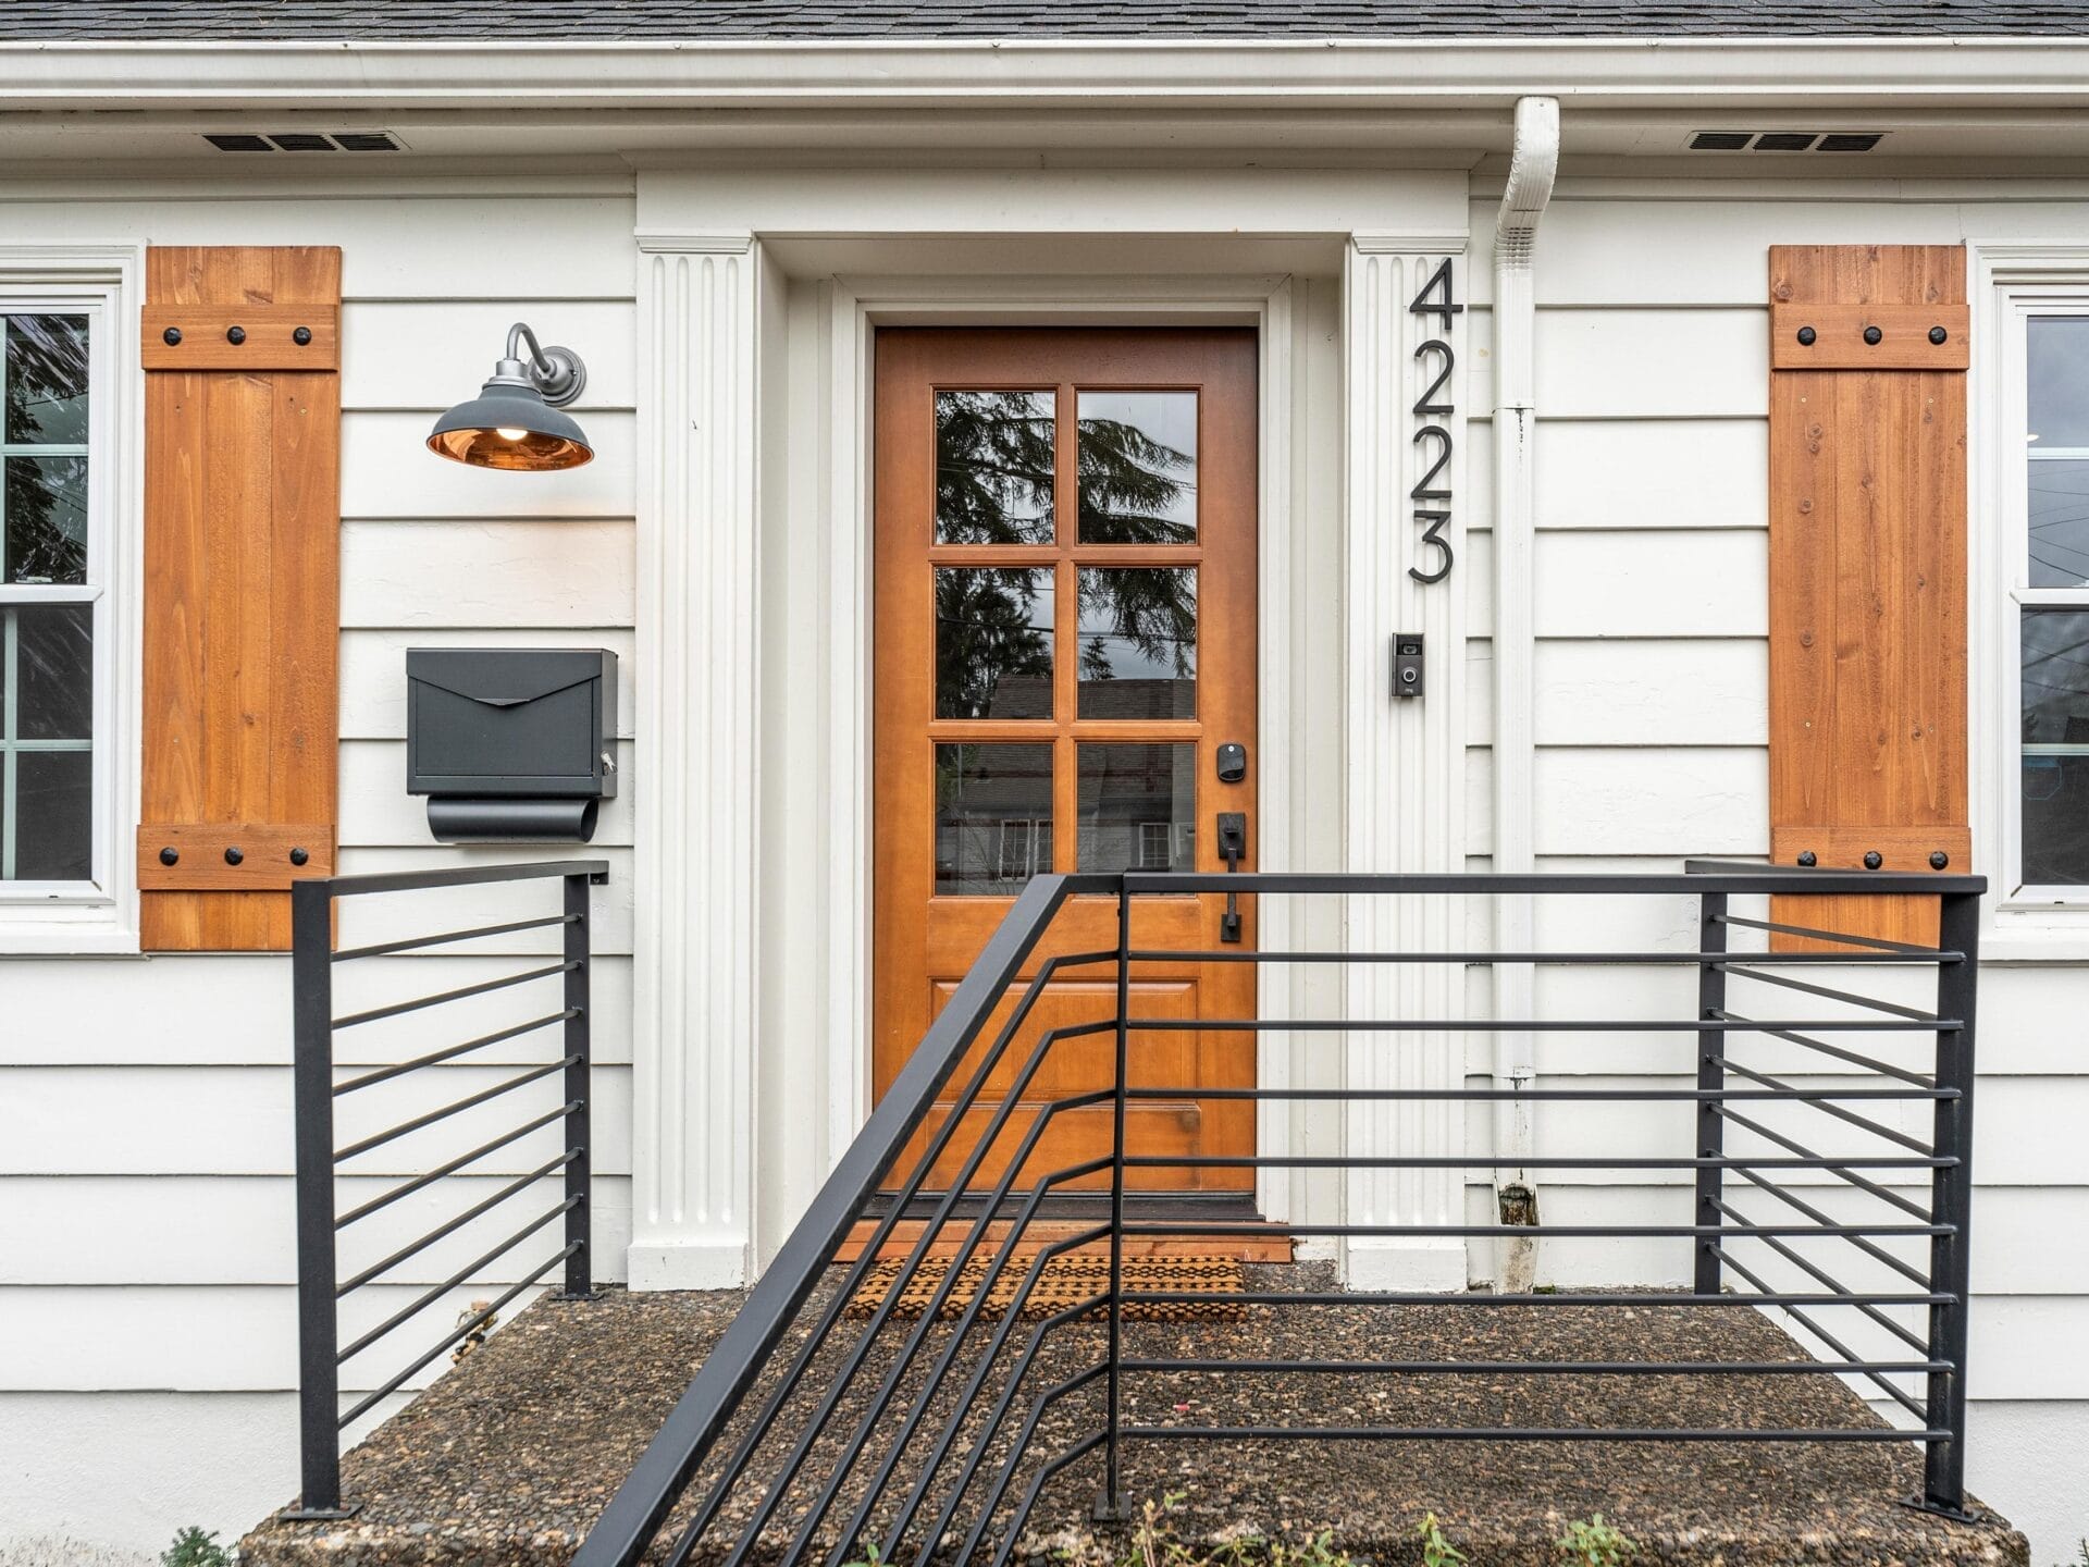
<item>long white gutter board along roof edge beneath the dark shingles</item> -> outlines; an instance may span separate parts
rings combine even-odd
[[[2089,104],[2083,38],[17,42],[23,109]]]

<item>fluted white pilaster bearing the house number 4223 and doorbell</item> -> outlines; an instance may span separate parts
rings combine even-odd
[[[1464,359],[1464,315],[1446,330],[1410,311],[1414,297],[1454,255],[1456,297],[1464,299],[1458,236],[1356,234],[1345,259],[1343,361],[1347,403],[1345,625],[1347,625],[1347,865],[1349,871],[1464,869],[1464,376],[1450,380],[1452,416],[1418,416],[1423,391],[1441,368],[1416,361],[1416,347],[1448,338]],[[1439,399],[1443,393],[1439,393]],[[1439,556],[1423,545],[1410,497],[1435,462],[1435,443],[1416,443],[1423,424],[1452,435],[1452,462],[1437,487],[1452,489],[1454,552],[1446,581],[1416,583],[1410,566],[1433,570]],[[1395,633],[1418,631],[1427,648],[1427,692],[1393,694]],[[1349,898],[1349,951],[1452,951],[1462,944],[1464,911],[1441,896],[1358,894]],[[1456,1018],[1464,1011],[1458,965],[1360,963],[1349,969],[1354,1020]],[[1352,1089],[1456,1086],[1460,1036],[1450,1032],[1356,1030],[1345,1040]],[[1352,1101],[1345,1147],[1352,1155],[1446,1155],[1462,1147],[1462,1118],[1446,1101]],[[1345,1214],[1352,1224],[1456,1224],[1464,1203],[1456,1170],[1352,1170]],[[1356,1289],[1460,1289],[1464,1243],[1456,1237],[1356,1237],[1343,1247]]]

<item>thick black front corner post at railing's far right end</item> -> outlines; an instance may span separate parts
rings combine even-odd
[[[1937,1086],[1955,1099],[1937,1101],[1939,1160],[1930,1176],[1930,1222],[1949,1224],[1949,1235],[1930,1239],[1930,1293],[1945,1295],[1930,1306],[1930,1360],[1949,1371],[1930,1373],[1928,1425],[1949,1431],[1947,1442],[1930,1442],[1922,1465],[1922,1506],[1932,1513],[1966,1513],[1966,1337],[1972,1312],[1972,1078],[1974,999],[1980,988],[1980,898],[1947,892],[1941,898],[1937,946],[1964,953],[1957,963],[1937,965],[1937,1015],[1957,1028],[1937,1030]]]

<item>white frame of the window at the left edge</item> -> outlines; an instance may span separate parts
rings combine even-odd
[[[94,863],[88,882],[0,882],[0,955],[138,951],[144,244],[0,244],[0,309],[86,313],[94,595]],[[0,585],[0,602],[48,600]]]

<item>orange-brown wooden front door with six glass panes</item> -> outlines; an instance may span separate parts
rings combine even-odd
[[[1247,817],[1253,855],[1253,332],[879,332],[875,585],[882,1095],[1030,875],[1222,871],[1220,811]],[[1218,777],[1224,744],[1249,754],[1239,781]],[[1220,944],[1220,896],[1141,898],[1132,942],[1251,951],[1251,903],[1239,949]],[[1116,942],[1116,898],[1080,898],[1032,965]],[[1057,980],[982,1105],[1001,1101],[1042,1030],[1113,1011],[1113,972]],[[1251,1018],[1255,965],[1143,965],[1132,1011]],[[973,1185],[1007,1168],[1028,1105],[1107,1089],[1113,1057],[1109,1032],[1055,1045]],[[1253,1101],[1193,1093],[1253,1086],[1251,1032],[1134,1032],[1130,1082],[1182,1089],[1134,1101],[1132,1153],[1255,1151]],[[976,1141],[961,1128],[930,1185],[946,1187]],[[1022,1187],[1109,1147],[1109,1105],[1061,1112]],[[1136,1170],[1132,1185],[1251,1191],[1253,1170]]]

